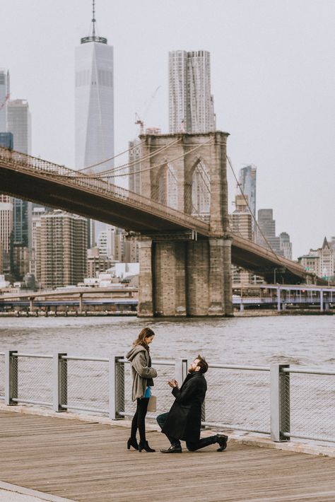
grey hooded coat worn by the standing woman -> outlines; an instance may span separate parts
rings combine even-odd
[[[149,368],[149,354],[143,345],[135,345],[127,354],[127,359],[131,363],[131,377],[133,381],[131,399],[141,399],[146,392],[146,380],[155,378],[157,371]]]

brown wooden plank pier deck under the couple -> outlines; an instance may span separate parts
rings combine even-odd
[[[0,480],[74,501],[334,501],[335,458],[228,443],[182,455],[126,449],[129,430],[0,410]],[[148,432],[152,447],[167,440]]]

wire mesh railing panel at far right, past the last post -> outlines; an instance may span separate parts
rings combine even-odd
[[[290,373],[290,433],[335,440],[335,375]]]

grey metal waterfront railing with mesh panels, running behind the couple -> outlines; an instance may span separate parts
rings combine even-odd
[[[153,360],[158,368],[153,393],[158,407],[148,419],[168,411],[174,401],[167,380],[182,383],[187,359]],[[335,443],[335,371],[290,368],[285,364],[213,364],[202,425]],[[123,356],[109,358],[0,352],[0,399],[5,404],[39,404],[54,411],[86,411],[124,419],[134,414],[131,370]]]

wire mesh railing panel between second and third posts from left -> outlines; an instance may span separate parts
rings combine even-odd
[[[67,361],[67,407],[109,410],[109,366],[105,361]]]

